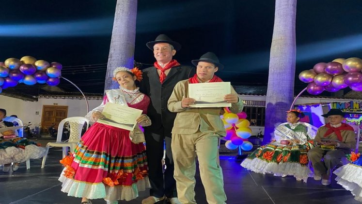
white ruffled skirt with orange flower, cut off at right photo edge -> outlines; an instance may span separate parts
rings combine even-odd
[[[337,175],[337,184],[351,191],[354,199],[362,202],[362,157],[360,153],[351,153],[353,161],[333,171]]]

